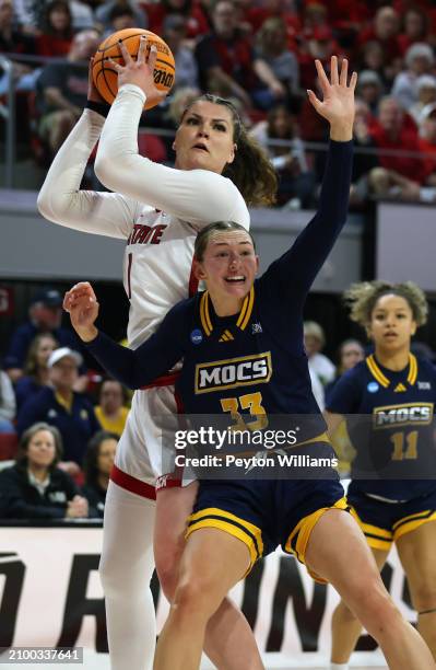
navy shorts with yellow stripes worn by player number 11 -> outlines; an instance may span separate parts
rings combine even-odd
[[[347,501],[369,546],[385,552],[401,535],[436,520],[436,488],[406,503],[385,503],[361,492],[349,494]]]

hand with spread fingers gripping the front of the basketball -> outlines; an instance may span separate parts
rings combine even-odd
[[[125,65],[120,65],[111,59],[109,60],[110,65],[118,72],[118,89],[125,83],[135,84],[145,93],[150,106],[154,106],[166,97],[167,91],[160,91],[154,83],[153,72],[156,65],[157,50],[154,45],[148,48],[146,42],[146,37],[141,35],[137,59],[132,58],[123,42],[119,42],[118,49],[125,60]],[[148,50],[149,55],[146,55]]]

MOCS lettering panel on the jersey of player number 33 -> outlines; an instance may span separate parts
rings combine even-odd
[[[271,351],[196,366],[196,393],[264,384],[272,374]]]

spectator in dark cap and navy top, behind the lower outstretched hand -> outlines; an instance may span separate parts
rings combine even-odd
[[[81,348],[72,331],[61,327],[61,320],[62,298],[59,291],[44,289],[35,293],[28,308],[28,321],[12,333],[4,357],[3,367],[12,382],[23,376],[24,363],[36,335],[50,333],[61,346]]]

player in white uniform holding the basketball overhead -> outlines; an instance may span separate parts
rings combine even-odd
[[[276,183],[233,106],[211,96],[202,96],[185,112],[174,141],[175,169],[140,157],[137,138],[144,102],[162,99],[152,74],[156,54],[152,49],[145,62],[143,42],[134,61],[120,48],[126,67],[117,66],[119,92],[106,122],[105,105],[90,78],[87,108],[54,160],[38,208],[55,223],[127,241],[128,340],[137,348],[170,307],[197,290],[190,270],[198,230],[216,220],[248,228],[246,203],[271,203]],[[98,139],[95,172],[115,193],[80,190]],[[170,598],[185,522],[197,492],[196,484],[184,487],[168,480],[162,465],[158,416],[177,412],[176,373],[168,371],[152,388],[134,394],[107,493],[101,577],[113,670],[151,668],[154,527],[157,574]],[[157,481],[162,488],[155,505]],[[226,670],[262,667],[247,622],[228,600],[211,620],[205,650]]]

